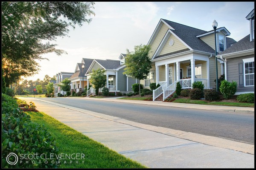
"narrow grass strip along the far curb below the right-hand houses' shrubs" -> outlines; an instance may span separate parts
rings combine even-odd
[[[254,108],[254,103],[239,103],[239,102],[206,102],[192,99],[176,99],[174,103],[191,103],[200,105],[221,105],[221,106],[236,106],[236,107],[250,107]]]

